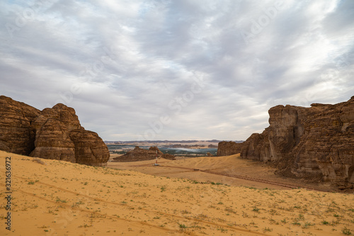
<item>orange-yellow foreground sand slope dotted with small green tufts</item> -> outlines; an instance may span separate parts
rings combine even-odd
[[[5,157],[11,156],[11,232]],[[354,196],[195,184],[0,152],[0,235],[343,235]]]

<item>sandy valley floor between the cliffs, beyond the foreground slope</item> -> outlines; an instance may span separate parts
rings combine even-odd
[[[205,172],[195,172],[193,169],[211,170],[219,173],[228,173],[237,176],[248,176],[256,179],[280,182],[292,186],[302,186],[309,189],[331,190],[329,184],[307,183],[304,180],[284,178],[275,175],[275,168],[262,162],[256,162],[248,159],[241,159],[239,154],[227,157],[195,157],[178,159],[171,161],[168,159],[159,159],[159,167],[154,167],[155,160],[142,162],[108,162],[108,167],[115,169],[129,169],[144,174],[153,174],[158,176],[188,178],[202,182],[219,182],[231,186],[249,186],[258,189],[289,189],[273,184],[265,184],[256,181],[244,179],[235,179],[227,176],[217,176]]]

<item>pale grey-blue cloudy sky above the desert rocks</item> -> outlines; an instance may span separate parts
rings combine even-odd
[[[246,140],[354,95],[354,1],[0,1],[0,94],[103,140]]]

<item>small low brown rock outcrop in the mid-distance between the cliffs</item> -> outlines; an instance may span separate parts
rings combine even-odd
[[[120,157],[115,157],[113,160],[115,162],[138,162],[146,161],[149,159],[156,159],[156,151],[158,158],[161,157],[165,159],[175,159],[173,155],[164,154],[157,147],[150,147],[149,150],[146,150],[136,146],[134,150],[131,150]]]

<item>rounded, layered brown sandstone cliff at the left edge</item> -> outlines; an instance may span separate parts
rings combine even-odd
[[[0,150],[94,166],[105,165],[108,148],[81,127],[73,108],[57,104],[43,111],[0,96]]]

